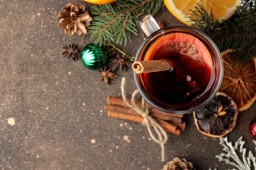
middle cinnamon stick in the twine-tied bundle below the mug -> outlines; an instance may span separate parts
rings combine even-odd
[[[124,113],[124,114],[139,116],[139,114],[135,110],[133,110],[132,108],[119,106],[119,105],[106,104],[105,105],[105,110],[114,111],[114,112],[117,112],[117,113]],[[155,113],[150,113],[150,115],[154,118],[167,120],[167,121],[172,121],[172,122],[175,122],[175,123],[178,123],[178,124],[180,124],[182,122],[181,117],[173,117],[173,116],[169,116],[169,115],[161,115],[161,114],[155,114]]]

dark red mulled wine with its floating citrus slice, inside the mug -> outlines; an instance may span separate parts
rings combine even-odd
[[[141,82],[151,99],[170,107],[193,105],[214,79],[213,57],[207,46],[188,33],[169,33],[158,38],[145,53],[144,61],[169,59],[167,71],[141,74]]]

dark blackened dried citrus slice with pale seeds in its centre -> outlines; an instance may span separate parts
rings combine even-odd
[[[223,137],[236,126],[238,108],[227,94],[218,92],[206,106],[193,112],[195,126],[209,137]]]

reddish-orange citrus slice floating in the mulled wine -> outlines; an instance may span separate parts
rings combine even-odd
[[[160,49],[160,50],[159,50]],[[187,33],[170,33],[159,38],[148,50],[145,60],[165,58],[166,54],[179,53],[184,65],[192,68],[213,67],[211,53],[202,41]]]

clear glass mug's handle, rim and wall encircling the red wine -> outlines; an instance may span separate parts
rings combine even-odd
[[[139,50],[135,57],[135,61],[144,61],[150,46],[152,46],[162,36],[171,33],[186,33],[198,38],[207,47],[207,49],[211,53],[211,57],[213,60],[210,81],[211,83],[209,82],[204,92],[201,95],[199,95],[200,97],[193,99],[193,101],[188,102],[186,104],[168,104],[166,102],[163,102],[161,101],[161,99],[156,98],[152,94],[152,92],[150,92],[149,88],[146,86],[146,80],[143,74],[148,73],[137,74],[134,72],[135,83],[142,97],[144,97],[144,99],[146,99],[146,101],[155,108],[166,113],[174,114],[191,113],[209,103],[218,92],[223,77],[222,58],[220,55],[220,51],[218,50],[214,42],[206,34],[202,33],[197,29],[193,29],[189,26],[168,26],[160,29],[157,22],[148,12],[143,12],[137,15],[136,22],[145,40],[139,47]],[[164,84],[165,80],[162,79],[160,83]],[[162,84],[160,84],[160,86]]]

